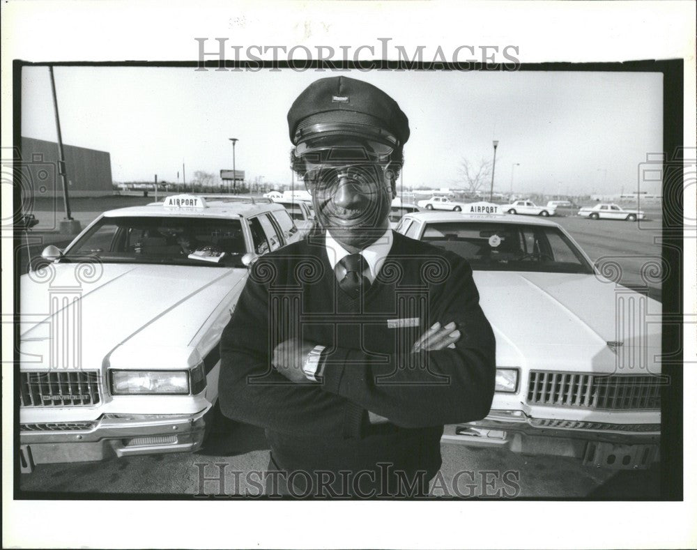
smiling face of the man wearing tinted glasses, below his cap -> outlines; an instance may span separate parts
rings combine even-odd
[[[346,250],[358,252],[385,234],[395,197],[386,163],[306,163],[306,169],[316,219]]]

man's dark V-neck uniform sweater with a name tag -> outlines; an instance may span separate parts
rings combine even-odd
[[[323,234],[254,264],[221,340],[220,406],[266,429],[287,471],[441,466],[443,425],[483,418],[493,397],[495,341],[461,257],[393,233],[367,292],[338,288]],[[436,321],[455,321],[455,349],[411,353]],[[322,383],[292,383],[270,366],[279,342],[327,348]],[[388,418],[371,425],[367,411]]]

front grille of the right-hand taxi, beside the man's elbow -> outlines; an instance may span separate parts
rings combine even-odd
[[[528,404],[606,411],[661,408],[661,383],[650,375],[530,372]]]

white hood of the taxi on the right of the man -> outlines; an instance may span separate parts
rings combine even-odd
[[[475,271],[498,365],[659,372],[661,304],[597,275]]]

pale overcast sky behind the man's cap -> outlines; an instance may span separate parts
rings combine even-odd
[[[406,113],[405,186],[454,187],[464,158],[491,160],[495,190],[630,192],[638,164],[662,148],[662,75],[633,72],[197,72],[193,68],[57,67],[63,142],[108,151],[114,181],[176,181],[185,163],[289,183],[286,114],[316,79],[348,75]],[[22,135],[56,140],[49,70],[22,70]],[[514,163],[519,166],[513,168]],[[513,172],[514,170],[514,172]],[[181,176],[181,174],[180,174]],[[660,192],[660,184],[642,190]]]

